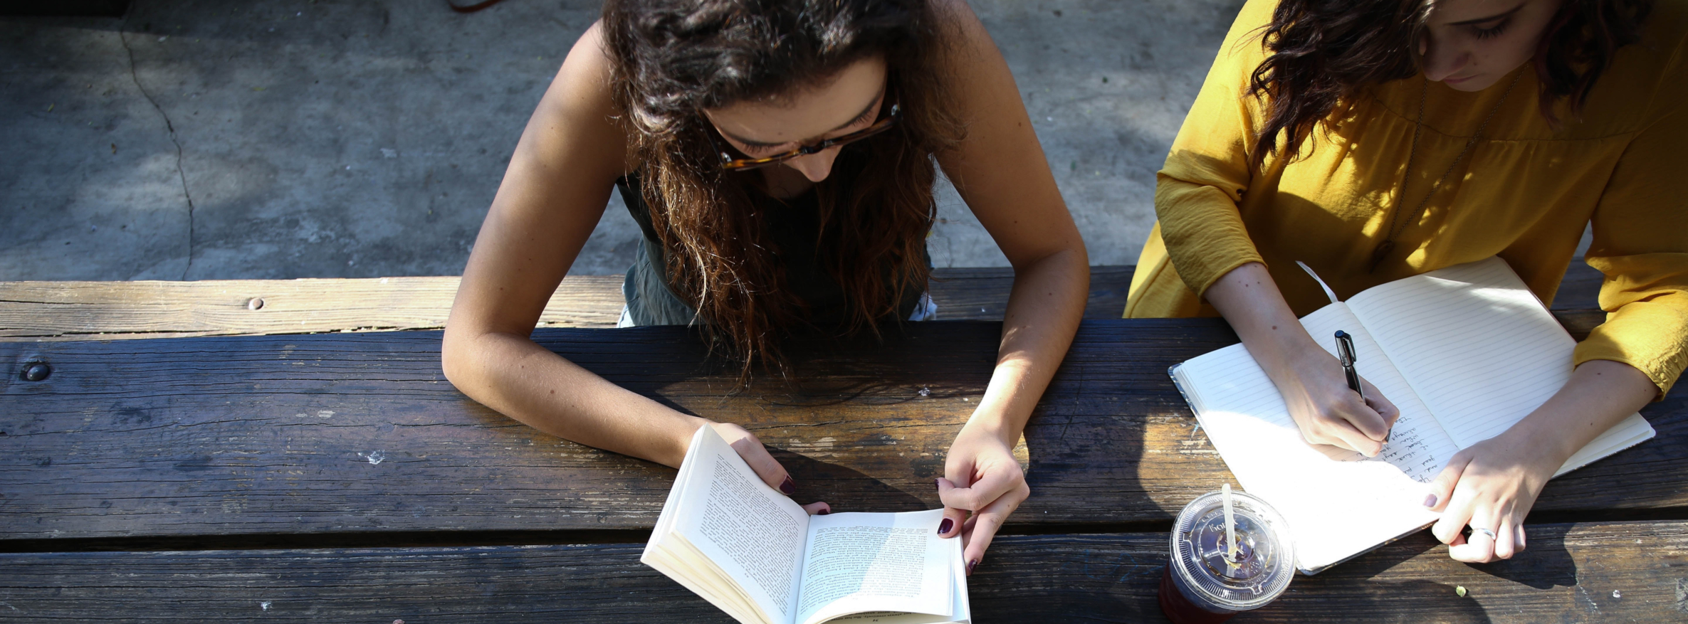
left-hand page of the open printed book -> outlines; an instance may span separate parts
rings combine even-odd
[[[792,622],[809,513],[761,482],[712,428],[699,435],[704,440],[685,457],[695,472],[682,471],[689,481],[675,484],[682,496],[672,531],[731,577],[768,621]]]

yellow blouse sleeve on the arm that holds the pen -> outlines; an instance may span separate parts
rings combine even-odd
[[[1251,137],[1259,125],[1259,103],[1246,86],[1264,59],[1258,29],[1271,19],[1273,7],[1271,0],[1251,0],[1237,13],[1166,165],[1155,175],[1155,216],[1166,255],[1197,295],[1231,270],[1263,261],[1237,201],[1252,177]]]

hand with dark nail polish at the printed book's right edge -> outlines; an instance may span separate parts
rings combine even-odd
[[[939,535],[962,536],[962,560],[972,575],[996,530],[1025,503],[1031,487],[1014,459],[1014,447],[972,422],[950,444],[944,476],[939,479],[939,499],[944,501]]]

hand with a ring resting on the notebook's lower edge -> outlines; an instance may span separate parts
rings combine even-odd
[[[1487,563],[1524,550],[1524,516],[1560,464],[1551,462],[1553,454],[1533,449],[1511,433],[1460,450],[1430,484],[1435,501],[1425,503],[1431,511],[1442,511],[1442,519],[1430,531],[1448,545],[1453,560]],[[1470,536],[1463,535],[1467,524]]]

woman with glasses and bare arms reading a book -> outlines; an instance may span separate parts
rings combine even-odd
[[[665,465],[714,427],[793,494],[744,428],[614,386],[528,334],[611,189],[645,234],[623,325],[701,325],[746,376],[778,368],[797,329],[928,319],[939,167],[1014,266],[996,369],[937,482],[939,531],[969,538],[971,572],[1030,494],[1013,447],[1077,331],[1089,263],[1013,76],[962,0],[606,2],[481,226],[446,376],[538,430]]]

